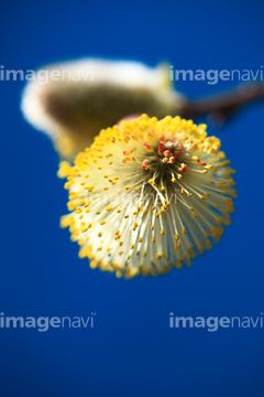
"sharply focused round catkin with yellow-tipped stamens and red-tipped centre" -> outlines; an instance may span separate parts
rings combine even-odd
[[[58,171],[70,212],[61,225],[79,257],[128,279],[190,267],[234,211],[234,170],[220,147],[205,125],[180,117],[142,115],[102,130]]]

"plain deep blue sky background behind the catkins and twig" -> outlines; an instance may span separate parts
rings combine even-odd
[[[176,68],[250,69],[264,64],[261,1],[2,2],[0,64],[32,69],[98,55]],[[199,96],[232,86],[179,82]],[[264,105],[217,133],[238,169],[237,212],[219,245],[191,269],[132,281],[90,270],[58,219],[67,193],[50,140],[20,112],[23,82],[0,82],[0,311],[88,316],[88,330],[0,330],[1,396],[264,395],[264,329],[174,330],[168,313],[264,312]]]

